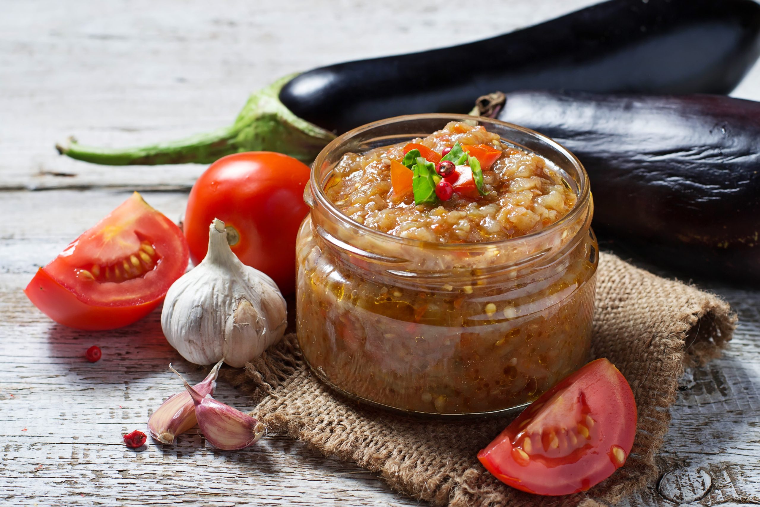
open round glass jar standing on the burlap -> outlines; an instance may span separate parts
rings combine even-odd
[[[340,158],[477,122],[540,155],[578,195],[537,233],[433,243],[356,223],[324,185]],[[591,341],[597,241],[587,174],[546,136],[495,119],[399,116],[328,144],[305,192],[296,240],[297,334],[319,379],[352,398],[415,414],[502,414],[583,366]]]

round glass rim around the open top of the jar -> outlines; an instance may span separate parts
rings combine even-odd
[[[549,226],[543,228],[542,230],[538,230],[534,233],[524,234],[522,236],[514,236],[507,239],[498,239],[496,241],[486,241],[486,242],[440,243],[440,242],[424,241],[423,239],[404,238],[401,236],[394,236],[393,234],[384,233],[380,230],[372,229],[371,227],[366,227],[366,225],[364,225],[363,223],[359,223],[356,220],[353,220],[351,217],[347,216],[346,214],[341,213],[340,210],[328,198],[327,194],[325,193],[325,189],[319,182],[320,168],[322,164],[325,163],[325,159],[328,157],[328,154],[336,150],[337,147],[340,147],[341,144],[344,144],[345,142],[349,141],[351,138],[354,138],[359,134],[372,130],[373,128],[378,128],[378,127],[390,125],[397,122],[404,122],[404,121],[409,121],[409,120],[425,120],[425,119],[432,119],[432,120],[439,119],[439,120],[458,121],[458,122],[476,121],[479,123],[487,122],[487,123],[492,123],[496,125],[502,125],[507,128],[511,128],[519,132],[523,132],[524,134],[538,141],[548,144],[549,147],[553,147],[555,151],[557,151],[560,155],[562,155],[562,157],[564,157],[569,163],[571,163],[573,168],[578,173],[578,200],[575,202],[575,205],[568,212],[568,214],[566,214],[564,217],[560,218],[556,222],[551,223]],[[534,151],[534,153],[537,155],[543,156],[537,151]],[[334,138],[334,140],[331,141],[330,144],[322,148],[322,151],[319,152],[319,154],[314,160],[314,163],[312,163],[311,173],[309,177],[309,189],[312,193],[312,198],[314,198],[318,202],[318,204],[320,204],[321,207],[325,209],[325,211],[328,211],[328,213],[331,215],[331,218],[333,220],[337,220],[338,222],[341,223],[341,225],[345,224],[349,227],[355,227],[357,230],[361,231],[363,234],[366,234],[370,237],[375,237],[377,239],[382,239],[383,241],[395,242],[399,245],[404,245],[404,246],[412,246],[412,247],[416,246],[416,247],[424,248],[424,249],[438,249],[438,250],[492,249],[497,246],[502,247],[502,246],[515,245],[515,244],[518,244],[519,242],[532,241],[534,239],[539,239],[543,236],[547,236],[549,234],[555,233],[556,230],[561,230],[562,227],[564,227],[565,224],[567,223],[573,223],[575,220],[578,220],[578,215],[583,213],[584,210],[588,208],[588,204],[591,199],[591,185],[588,179],[588,174],[586,173],[586,169],[584,168],[583,164],[581,163],[580,160],[578,160],[578,157],[575,157],[575,154],[573,154],[572,151],[569,151],[566,147],[562,146],[562,144],[559,144],[557,141],[554,141],[552,138],[549,138],[548,136],[540,134],[539,132],[536,132],[534,130],[531,130],[530,128],[521,127],[520,125],[515,125],[514,123],[502,122],[499,119],[487,118],[485,116],[471,116],[471,115],[454,114],[454,113],[439,113],[439,112],[393,116],[391,118],[378,120],[377,122],[361,125],[359,127],[353,128],[352,130],[342,135],[339,135],[337,138]],[[314,208],[313,204],[309,204],[309,207]]]

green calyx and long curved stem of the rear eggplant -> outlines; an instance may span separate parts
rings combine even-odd
[[[123,149],[89,147],[68,138],[55,149],[77,160],[111,166],[212,163],[241,151],[276,151],[309,163],[335,136],[300,119],[280,102],[280,89],[295,75],[252,93],[233,125],[213,132]]]

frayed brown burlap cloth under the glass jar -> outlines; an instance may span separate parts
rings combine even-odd
[[[670,423],[684,366],[704,363],[730,340],[736,317],[717,296],[600,255],[592,356],[628,379],[638,405],[631,455],[585,493],[533,496],[505,486],[477,460],[510,419],[442,423],[372,410],[334,394],[309,374],[288,334],[228,380],[258,401],[254,414],[325,455],[355,461],[394,490],[433,505],[597,505],[617,502],[657,475],[654,456]]]

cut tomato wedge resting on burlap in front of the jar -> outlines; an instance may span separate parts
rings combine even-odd
[[[631,387],[613,363],[598,359],[546,391],[477,457],[518,490],[567,495],[622,467],[635,433]]]

